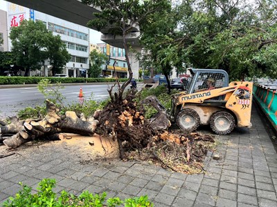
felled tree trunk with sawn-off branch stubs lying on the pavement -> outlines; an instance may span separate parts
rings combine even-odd
[[[93,135],[97,120],[84,121],[75,112],[68,111],[65,115],[58,115],[59,109],[51,101],[46,100],[47,115],[42,120],[19,121],[12,117],[10,124],[2,122],[0,126],[0,141],[8,148],[17,148],[21,144],[35,139],[62,139],[60,132],[76,133],[79,135]]]

